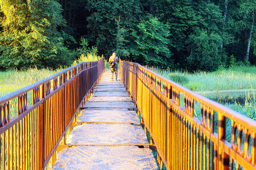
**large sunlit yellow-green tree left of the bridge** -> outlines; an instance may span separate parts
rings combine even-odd
[[[0,64],[5,69],[56,67],[69,60],[58,26],[64,24],[55,0],[1,0]]]

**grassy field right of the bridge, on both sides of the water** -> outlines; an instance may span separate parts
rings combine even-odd
[[[224,104],[226,107],[240,112],[243,115],[255,119],[256,103],[256,67],[255,66],[234,66],[229,69],[219,68],[216,72],[181,72],[172,70],[161,70],[157,68],[148,68],[169,80],[173,80],[178,84],[193,90],[203,96],[202,92],[214,93],[222,91],[236,91],[240,90],[250,95],[246,98],[245,104],[233,103]],[[230,98],[235,98],[230,94]],[[211,98],[211,96],[210,96]],[[219,102],[219,101],[217,101]],[[184,105],[181,94],[181,106]],[[195,114],[200,113],[199,109],[195,109]]]

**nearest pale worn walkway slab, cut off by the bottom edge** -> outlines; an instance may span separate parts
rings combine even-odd
[[[149,148],[80,146],[61,150],[53,169],[155,170],[157,163]]]

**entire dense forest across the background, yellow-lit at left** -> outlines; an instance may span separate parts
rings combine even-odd
[[[0,0],[0,7],[2,70],[113,52],[162,69],[256,63],[256,0]]]

